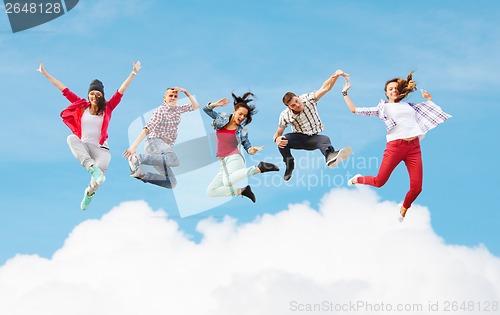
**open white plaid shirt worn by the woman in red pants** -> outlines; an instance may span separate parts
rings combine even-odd
[[[396,127],[397,123],[394,119],[387,117],[385,113],[385,104],[387,101],[380,100],[375,107],[358,107],[356,108],[356,114],[362,116],[378,116],[385,123],[385,127],[387,132],[391,131],[392,128]],[[445,113],[441,107],[434,104],[432,101],[422,102],[418,104],[407,103],[415,110],[415,118],[417,120],[417,124],[420,126],[420,129],[424,132],[424,134],[431,130],[434,127],[442,124],[445,120],[451,117]]]

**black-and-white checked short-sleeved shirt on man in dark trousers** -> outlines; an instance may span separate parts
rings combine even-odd
[[[323,131],[323,123],[318,114],[318,103],[316,101],[315,92],[302,94],[299,96],[304,109],[295,114],[290,108],[286,108],[281,112],[278,126],[286,128],[292,126],[292,132],[303,133],[312,136]]]

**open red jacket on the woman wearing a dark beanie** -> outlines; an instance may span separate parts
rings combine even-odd
[[[65,88],[62,93],[68,101],[71,102],[71,105],[61,112],[61,118],[66,126],[71,129],[73,134],[75,134],[78,138],[81,138],[82,115],[83,112],[90,106],[90,102],[71,92],[68,88]],[[108,126],[109,121],[111,120],[111,113],[122,100],[122,96],[123,94],[116,91],[116,93],[106,102],[101,127],[101,139],[99,140],[100,145],[103,145],[106,139],[108,139]]]

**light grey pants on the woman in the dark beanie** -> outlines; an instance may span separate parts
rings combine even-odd
[[[67,142],[71,152],[83,167],[88,169],[90,166],[96,165],[103,173],[106,173],[111,161],[111,153],[108,148],[98,143],[84,142],[75,135],[69,135]],[[99,188],[93,178],[90,180],[89,188],[89,194],[93,194]]]

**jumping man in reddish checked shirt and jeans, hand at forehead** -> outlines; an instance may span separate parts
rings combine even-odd
[[[186,94],[190,104],[177,105],[179,92]],[[196,99],[184,88],[167,88],[163,96],[163,104],[153,113],[137,139],[123,156],[129,160],[130,176],[145,183],[151,183],[165,188],[175,188],[177,181],[171,167],[179,165],[179,159],[172,150],[177,139],[177,131],[181,115],[200,108]],[[147,136],[144,154],[137,154],[137,146]],[[152,165],[158,172],[144,172],[140,165]]]

